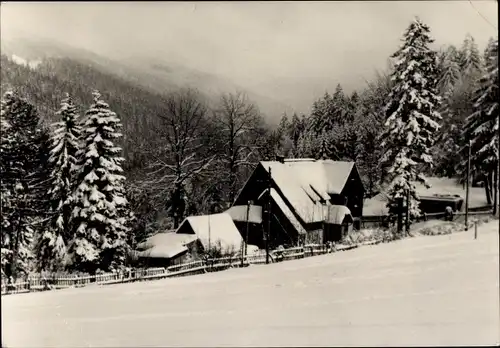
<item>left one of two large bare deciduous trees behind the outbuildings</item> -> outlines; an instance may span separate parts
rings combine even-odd
[[[198,92],[184,89],[169,94],[166,113],[159,114],[161,146],[151,151],[152,171],[144,181],[153,198],[168,197],[167,205],[174,228],[184,218],[186,183],[206,170],[213,162],[213,148],[207,136],[207,106]]]

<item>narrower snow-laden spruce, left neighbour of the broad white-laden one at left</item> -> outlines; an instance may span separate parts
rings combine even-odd
[[[53,124],[49,164],[50,220],[36,238],[35,255],[40,270],[55,271],[63,266],[66,245],[71,238],[71,213],[73,211],[74,169],[79,150],[81,127],[78,111],[71,97],[66,94],[57,112],[60,122]]]

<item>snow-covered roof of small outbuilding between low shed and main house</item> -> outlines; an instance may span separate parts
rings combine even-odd
[[[220,242],[224,249],[237,250],[241,247],[243,240],[241,234],[236,228],[233,219],[227,213],[187,217],[179,226],[177,232],[186,223],[191,225],[196,237],[205,248],[208,247],[209,240],[211,244]]]

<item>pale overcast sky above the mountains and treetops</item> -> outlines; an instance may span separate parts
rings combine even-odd
[[[473,7],[474,5],[474,7]],[[384,68],[412,18],[438,46],[497,35],[498,2],[2,3],[2,35],[17,30],[111,57],[154,55],[277,96],[360,86]],[[478,13],[479,12],[479,13]],[[487,22],[484,16],[491,24]],[[492,26],[493,25],[493,26]],[[277,88],[279,85],[279,88]],[[273,88],[274,86],[274,88]],[[297,89],[298,88],[298,89]],[[292,88],[293,89],[293,88]]]

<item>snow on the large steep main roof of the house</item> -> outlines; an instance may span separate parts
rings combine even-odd
[[[327,212],[321,200],[342,192],[354,162],[332,160],[262,161],[293,209],[306,223],[322,221]]]

